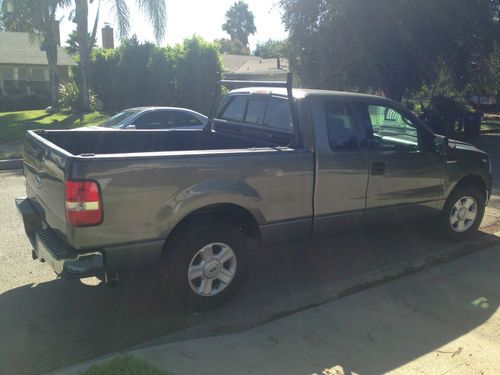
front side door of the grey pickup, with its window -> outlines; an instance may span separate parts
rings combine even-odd
[[[443,196],[443,160],[414,116],[387,102],[360,104],[369,124],[367,223],[432,214]]]

